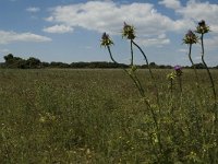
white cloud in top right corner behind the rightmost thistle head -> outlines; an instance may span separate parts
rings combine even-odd
[[[181,5],[179,0],[162,0],[159,4],[174,9],[174,12],[181,16],[181,19],[174,21],[178,30],[182,30],[185,26],[186,30],[195,28],[197,22],[205,20],[218,33],[218,4],[197,0],[189,0],[184,7]]]

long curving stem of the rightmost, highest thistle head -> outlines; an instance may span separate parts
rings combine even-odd
[[[203,65],[205,66],[205,68],[207,70],[207,74],[209,75],[209,80],[210,80],[211,89],[213,89],[213,93],[214,93],[214,103],[215,103],[215,106],[216,106],[217,94],[216,94],[216,90],[215,90],[215,83],[214,83],[214,80],[211,78],[211,73],[210,73],[210,71],[209,71],[209,69],[207,67],[207,63],[204,60],[204,34],[202,34],[202,36],[201,36],[201,44],[202,44],[202,62],[203,62]]]

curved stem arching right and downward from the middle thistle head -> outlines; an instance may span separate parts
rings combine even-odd
[[[150,67],[149,67],[148,59],[147,59],[145,52],[143,51],[143,49],[142,49],[134,40],[132,40],[132,43],[133,43],[133,45],[135,45],[135,46],[140,49],[140,51],[142,52],[143,57],[145,58],[147,68],[148,68],[148,70],[149,70],[150,78],[152,78],[152,80],[153,80],[153,82],[154,82],[154,85],[155,85],[155,90],[156,90],[155,93],[156,93],[156,97],[157,97],[157,104],[159,105],[159,93],[158,93],[158,89],[157,89],[157,84],[156,84],[155,78],[154,78],[153,72],[152,72],[152,69],[150,69]]]

